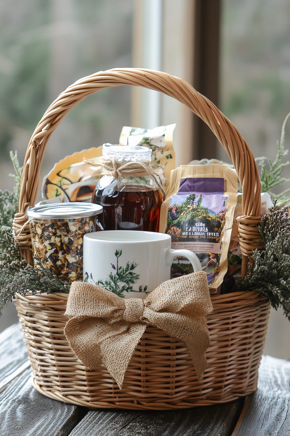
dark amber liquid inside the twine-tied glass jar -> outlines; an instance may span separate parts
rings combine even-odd
[[[142,184],[115,187],[117,184],[111,183],[104,189],[96,187],[93,192],[92,202],[103,206],[103,229],[158,232],[161,191]]]

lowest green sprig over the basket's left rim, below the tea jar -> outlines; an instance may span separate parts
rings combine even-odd
[[[41,265],[34,268],[24,260],[0,262],[0,315],[3,307],[16,293],[69,293],[69,290],[70,283],[62,282],[49,268]]]

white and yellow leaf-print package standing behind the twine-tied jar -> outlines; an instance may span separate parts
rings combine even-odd
[[[170,171],[175,168],[175,154],[173,150],[173,130],[176,124],[143,129],[140,127],[124,126],[119,143],[122,145],[143,145],[152,150],[151,166],[159,176],[163,190],[169,185]]]

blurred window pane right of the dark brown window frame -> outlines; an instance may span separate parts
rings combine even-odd
[[[223,1],[220,109],[255,157],[273,159],[290,111],[289,41],[288,0]]]

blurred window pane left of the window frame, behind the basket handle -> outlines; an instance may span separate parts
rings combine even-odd
[[[60,92],[93,72],[131,66],[133,7],[133,0],[1,1],[2,188],[13,184],[7,177],[9,150],[18,150],[23,161],[35,126]],[[118,141],[128,123],[130,88],[88,97],[51,136],[40,178],[67,154]]]

